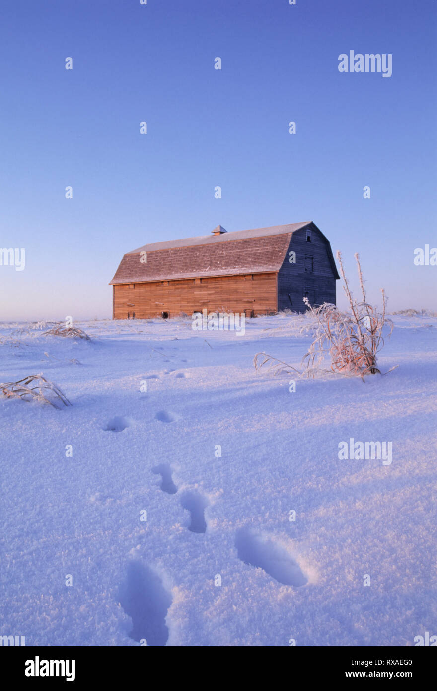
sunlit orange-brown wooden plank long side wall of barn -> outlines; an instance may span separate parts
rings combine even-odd
[[[193,312],[246,312],[250,316],[278,310],[275,272],[243,276],[213,276],[182,281],[153,281],[114,285],[114,319],[150,319]]]

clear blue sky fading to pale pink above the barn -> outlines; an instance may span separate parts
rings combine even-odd
[[[436,309],[436,28],[436,0],[3,0],[0,319],[110,316],[130,249],[303,220],[372,300]]]

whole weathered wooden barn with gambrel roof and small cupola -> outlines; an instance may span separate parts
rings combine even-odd
[[[113,319],[184,312],[274,314],[336,303],[331,245],[312,221],[150,243],[127,252],[110,285]]]

